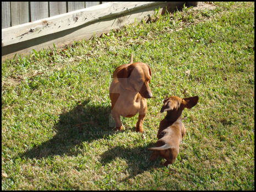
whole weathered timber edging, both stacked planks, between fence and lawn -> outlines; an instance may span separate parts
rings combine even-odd
[[[57,48],[181,7],[184,2],[111,2],[2,30],[2,61],[32,49]],[[24,33],[25,32],[25,33]]]

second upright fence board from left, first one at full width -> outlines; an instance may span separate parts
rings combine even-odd
[[[29,2],[10,2],[12,26],[29,22]]]

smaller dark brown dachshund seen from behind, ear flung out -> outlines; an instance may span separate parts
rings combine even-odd
[[[167,160],[165,166],[175,162],[179,153],[179,144],[186,133],[182,123],[182,111],[184,108],[193,108],[198,103],[198,99],[198,96],[185,99],[172,96],[164,100],[160,112],[167,111],[167,115],[160,122],[156,147],[149,148],[154,151],[150,161],[154,161],[160,155]]]

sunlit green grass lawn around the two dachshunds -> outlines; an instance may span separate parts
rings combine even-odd
[[[216,5],[2,63],[2,190],[254,190],[254,2]],[[131,53],[152,71],[145,139],[138,115],[110,127]],[[199,96],[168,168],[148,151],[167,95]]]

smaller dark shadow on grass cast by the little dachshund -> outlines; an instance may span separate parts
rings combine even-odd
[[[163,163],[161,162],[161,158],[157,158],[154,161],[149,160],[152,151],[149,151],[148,148],[152,146],[154,146],[154,143],[135,148],[129,148],[129,146],[115,146],[114,148],[101,154],[100,161],[104,166],[107,163],[115,161],[117,158],[124,159],[127,163],[126,171],[129,173],[129,176],[120,180],[120,182],[124,182],[129,178],[137,176],[137,174],[164,167]]]

